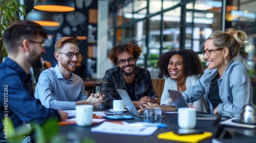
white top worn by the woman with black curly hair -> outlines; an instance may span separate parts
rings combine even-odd
[[[187,77],[186,78],[186,88],[191,85],[194,85],[198,79],[199,79],[199,76]],[[169,94],[168,90],[178,90],[177,82],[170,77],[165,79],[160,105],[166,105],[166,101],[169,101],[170,94]],[[196,107],[197,111],[207,112],[207,102],[206,102],[204,96],[202,96],[198,101],[193,102],[193,104]],[[175,106],[173,101],[170,101],[168,103],[168,105]]]

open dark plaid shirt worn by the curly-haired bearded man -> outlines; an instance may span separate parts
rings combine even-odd
[[[117,66],[110,68],[106,70],[102,80],[100,93],[105,94],[105,97],[101,105],[103,108],[112,109],[113,100],[122,100],[117,92],[117,88],[127,90],[122,71]],[[147,69],[136,66],[134,82],[136,101],[139,101],[144,96],[152,97],[156,94],[150,72]]]

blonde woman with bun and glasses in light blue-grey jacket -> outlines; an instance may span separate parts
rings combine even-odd
[[[245,66],[233,58],[247,42],[243,31],[212,33],[203,50],[208,69],[182,92],[186,101],[197,101],[206,94],[212,114],[240,117],[242,107],[252,104],[252,86]]]

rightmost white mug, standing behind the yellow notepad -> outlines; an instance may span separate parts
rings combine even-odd
[[[179,108],[178,109],[178,125],[183,129],[192,129],[196,127],[196,109],[195,108]]]

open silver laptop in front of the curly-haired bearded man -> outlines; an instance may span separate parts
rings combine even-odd
[[[126,90],[117,89],[117,92],[119,93],[120,97],[122,98],[126,108],[132,115],[137,116],[137,117],[144,117],[143,114],[140,114],[137,112],[137,109],[135,108],[135,106]]]

